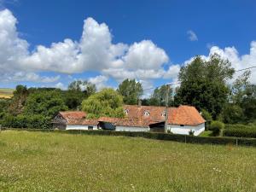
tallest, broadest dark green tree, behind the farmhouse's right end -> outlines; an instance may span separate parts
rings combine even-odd
[[[188,104],[206,109],[216,119],[230,93],[227,80],[235,73],[230,61],[212,55],[209,61],[195,57],[178,75],[181,85],[175,96],[176,105]]]

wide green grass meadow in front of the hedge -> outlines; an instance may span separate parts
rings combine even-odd
[[[0,132],[0,191],[256,191],[256,148]]]

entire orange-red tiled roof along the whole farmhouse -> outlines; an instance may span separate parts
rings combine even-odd
[[[99,121],[104,121],[114,125],[148,127],[166,119],[165,107],[125,105],[124,109],[127,111],[125,119],[110,117],[85,119],[86,113],[81,111],[60,112],[60,114],[67,120],[68,125],[97,125]],[[149,114],[145,115],[145,112]],[[205,122],[206,120],[194,107],[182,105],[178,108],[168,108],[168,124],[199,125]]]

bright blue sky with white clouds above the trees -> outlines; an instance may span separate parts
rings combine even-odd
[[[23,49],[19,48],[14,53],[9,51],[2,55],[3,58],[0,54],[0,74],[5,79],[0,81],[0,87],[15,87],[15,84],[21,83],[65,88],[73,79],[90,79],[100,89],[102,86],[116,87],[128,77],[140,80],[144,88],[148,88],[176,81],[178,67],[191,57],[205,55],[207,58],[216,52],[228,58],[236,69],[256,65],[255,1],[0,2],[2,12],[9,11],[0,15],[3,19],[2,26],[0,21],[0,32],[9,32],[10,41],[26,41],[26,45],[24,42],[19,44]],[[11,23],[5,23],[6,18],[12,17],[17,20],[15,29]],[[87,18],[91,20],[84,24]],[[108,29],[101,26],[102,23]],[[13,28],[10,29],[9,25]],[[86,26],[84,30],[83,26]],[[87,34],[84,38],[83,32]],[[104,37],[109,38],[109,35],[108,42],[103,43],[105,49],[101,49],[99,42],[104,41]],[[67,44],[75,48],[51,49],[51,44],[63,43],[65,38],[72,40]],[[94,38],[99,38],[95,44],[91,40]],[[84,43],[81,43],[82,39],[85,39]],[[4,52],[6,47],[14,49],[12,46],[18,46],[15,44],[2,43],[1,46],[0,43],[0,51],[3,49]],[[38,45],[43,45],[48,53],[38,50]],[[66,46],[66,43],[62,45]],[[106,51],[112,49],[112,45],[114,53],[108,55]],[[84,49],[81,49],[83,46]],[[91,56],[92,49],[96,56]],[[22,56],[9,63],[9,58],[17,51]],[[56,57],[55,51],[64,56]],[[68,51],[78,53],[68,57]],[[105,58],[106,54],[108,58]],[[78,55],[83,57],[81,61],[74,59]],[[49,57],[56,58],[49,61]],[[60,58],[64,57],[65,61],[62,61]]]

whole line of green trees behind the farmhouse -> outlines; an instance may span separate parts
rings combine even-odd
[[[125,79],[117,90],[96,90],[96,85],[84,80],[73,81],[67,90],[29,88],[17,85],[11,99],[0,100],[2,125],[49,126],[56,113],[65,110],[84,110],[89,118],[100,116],[124,117],[123,104],[165,106],[195,106],[208,121],[220,120],[226,124],[253,123],[256,119],[256,86],[250,84],[251,73],[245,71],[233,83],[235,74],[230,61],[219,55],[209,60],[196,56],[183,66],[178,74],[177,88],[162,85],[151,96],[143,98],[143,85],[136,79]],[[41,123],[39,122],[42,119]],[[16,122],[18,125],[9,125]]]

